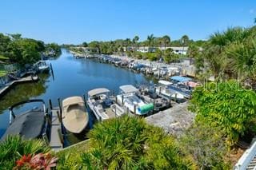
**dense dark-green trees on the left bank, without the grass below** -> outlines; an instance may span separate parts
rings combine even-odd
[[[0,34],[0,56],[20,65],[32,64],[40,60],[42,53],[53,50],[60,53],[57,44],[45,44],[31,38],[22,38],[21,34]]]

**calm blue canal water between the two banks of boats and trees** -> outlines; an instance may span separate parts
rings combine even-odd
[[[53,65],[52,75],[40,75],[40,81],[16,85],[2,99],[0,99],[0,137],[6,131],[9,123],[8,107],[19,101],[32,98],[43,99],[48,103],[52,100],[58,106],[58,97],[62,99],[70,96],[87,94],[90,89],[106,87],[118,93],[120,85],[147,84],[141,73],[133,73],[114,65],[99,63],[94,59],[75,59],[71,53],[62,49],[62,55],[49,61]],[[26,110],[25,105],[18,111]]]

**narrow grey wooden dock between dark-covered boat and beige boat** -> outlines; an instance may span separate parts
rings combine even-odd
[[[54,151],[59,151],[63,148],[63,138],[62,138],[62,125],[59,119],[60,109],[54,108],[51,110],[52,112],[52,125],[50,132],[50,148]]]

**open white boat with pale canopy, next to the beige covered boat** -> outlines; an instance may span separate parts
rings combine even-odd
[[[88,105],[98,121],[120,117],[125,113],[119,105],[110,99],[110,90],[105,88],[92,89],[88,92]]]

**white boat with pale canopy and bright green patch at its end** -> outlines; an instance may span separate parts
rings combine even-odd
[[[118,103],[122,104],[126,109],[129,109],[131,113],[138,115],[146,115],[154,109],[152,103],[144,103],[136,93],[136,89],[133,85],[122,85],[119,87],[121,94],[117,96]]]

